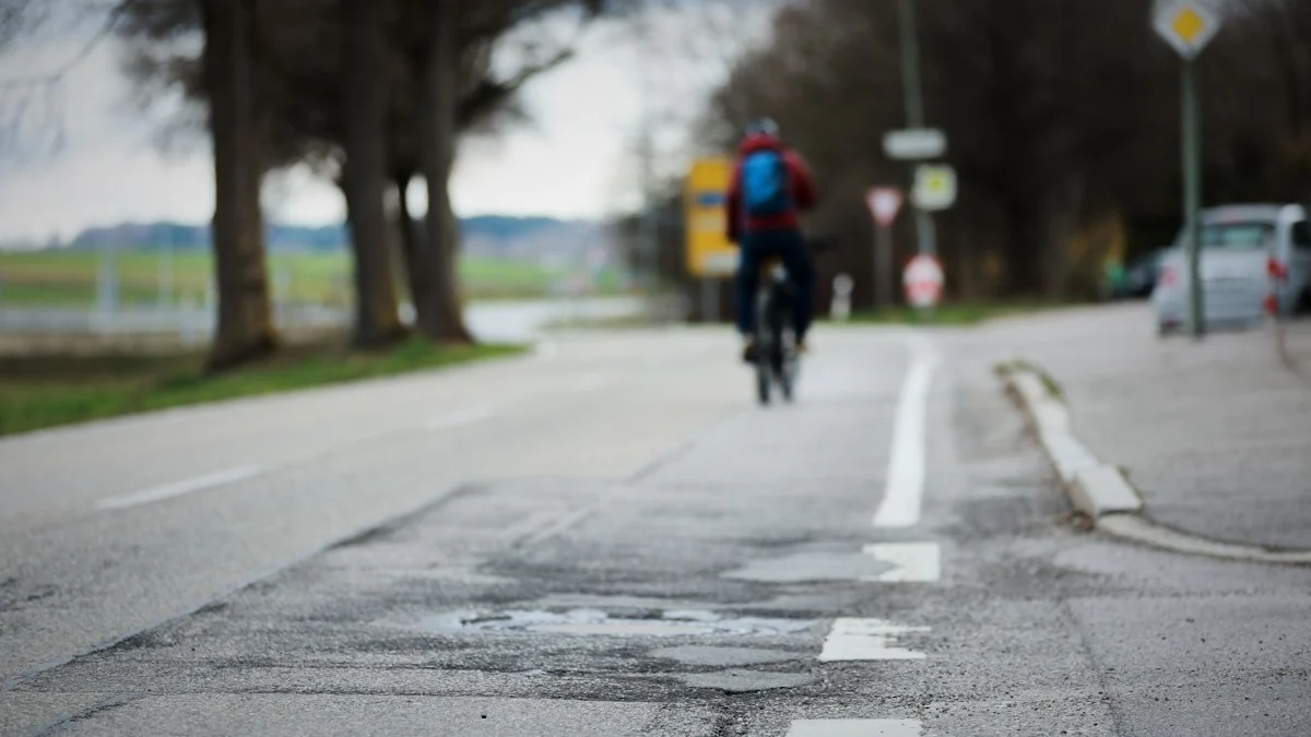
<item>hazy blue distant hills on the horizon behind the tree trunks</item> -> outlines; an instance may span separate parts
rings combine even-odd
[[[461,220],[460,227],[467,253],[505,258],[532,258],[552,253],[569,256],[578,249],[604,245],[606,240],[604,226],[586,220],[481,215]],[[271,250],[332,252],[343,249],[347,244],[343,224],[308,227],[274,223],[269,226],[267,233]],[[111,245],[190,250],[210,248],[210,244],[208,226],[160,222],[88,228],[68,248],[88,250]]]

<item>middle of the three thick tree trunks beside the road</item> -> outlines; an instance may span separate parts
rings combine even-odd
[[[387,87],[383,20],[376,0],[346,0],[342,8],[342,104],[346,122],[346,194],[355,257],[355,336],[359,348],[396,342],[405,329],[396,303],[387,240]]]

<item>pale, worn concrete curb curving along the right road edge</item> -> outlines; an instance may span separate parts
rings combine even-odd
[[[1007,388],[1019,397],[1038,441],[1061,476],[1070,502],[1110,535],[1188,555],[1278,564],[1311,564],[1311,551],[1274,551],[1257,546],[1209,540],[1143,515],[1143,500],[1116,466],[1103,463],[1074,434],[1070,409],[1038,370],[1015,362],[1000,370]]]

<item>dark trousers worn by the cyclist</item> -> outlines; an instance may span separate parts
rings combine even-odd
[[[755,296],[760,286],[760,264],[779,257],[788,270],[793,290],[793,323],[797,340],[810,329],[810,311],[814,307],[814,269],[806,252],[801,231],[794,228],[758,231],[742,236],[742,261],[737,273],[737,321],[743,336],[755,333]]]

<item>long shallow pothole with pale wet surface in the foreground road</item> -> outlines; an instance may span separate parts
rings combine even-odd
[[[619,637],[764,636],[802,632],[813,620],[730,616],[701,610],[669,610],[659,616],[620,616],[597,608],[450,611],[420,618],[429,632],[543,633]]]

